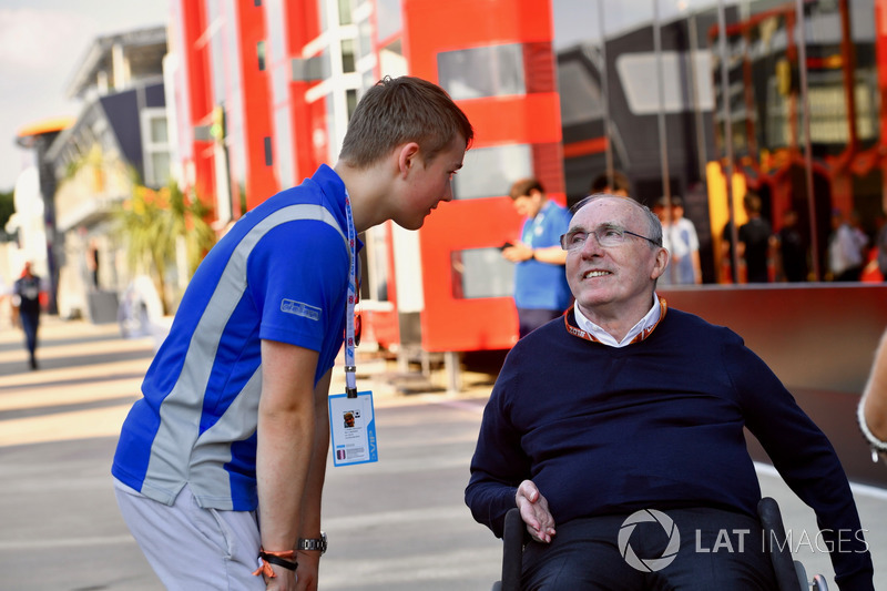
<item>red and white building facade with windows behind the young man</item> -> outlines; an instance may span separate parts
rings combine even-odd
[[[334,164],[363,90],[384,75],[445,88],[476,142],[453,202],[422,230],[367,232],[365,319],[383,346],[513,345],[512,269],[498,246],[521,220],[508,188],[534,175],[564,201],[549,0],[177,0],[172,31],[177,160],[220,231]]]

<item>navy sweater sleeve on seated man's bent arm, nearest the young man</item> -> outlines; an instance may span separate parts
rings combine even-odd
[[[512,357],[512,355],[509,355]],[[504,518],[516,507],[518,486],[530,478],[530,460],[521,449],[520,432],[508,418],[508,393],[513,385],[509,360],[496,380],[483,410],[480,435],[471,459],[471,478],[465,491],[466,505],[479,523],[497,538],[504,532]]]

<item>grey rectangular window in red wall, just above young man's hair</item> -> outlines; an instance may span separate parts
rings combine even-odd
[[[445,51],[437,65],[440,85],[457,101],[527,92],[520,44]]]

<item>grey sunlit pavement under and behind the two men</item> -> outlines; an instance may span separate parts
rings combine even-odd
[[[118,513],[109,473],[154,340],[49,317],[38,371],[21,340],[0,329],[0,591],[161,589]],[[490,589],[501,544],[462,503],[489,376],[467,374],[466,391],[452,395],[437,371],[425,380],[434,394],[405,395],[392,363],[361,358],[358,371],[361,389],[377,396],[379,461],[327,470],[320,589]],[[334,387],[341,383],[335,375]],[[830,579],[812,511],[771,468],[758,471],[796,558]],[[887,589],[887,493],[854,492],[876,588]]]

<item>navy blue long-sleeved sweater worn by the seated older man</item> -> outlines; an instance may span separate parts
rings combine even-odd
[[[761,489],[743,427],[814,509],[825,539],[837,544],[828,530],[844,532],[843,551],[832,553],[840,589],[873,589],[828,439],[738,335],[681,310],[622,348],[570,335],[562,318],[519,340],[483,412],[466,502],[499,537],[524,479],[555,524],[649,508],[756,516]]]

